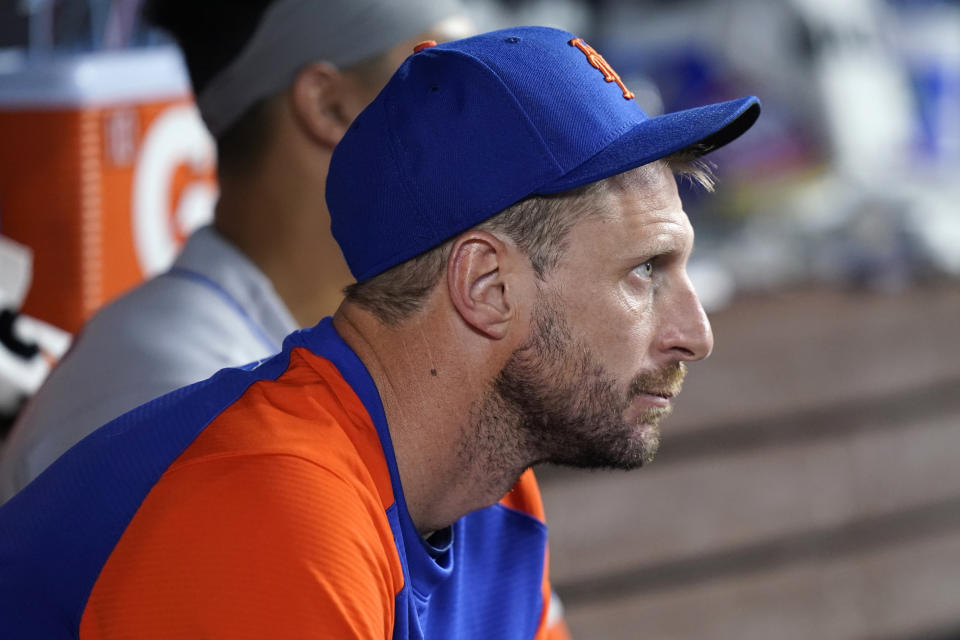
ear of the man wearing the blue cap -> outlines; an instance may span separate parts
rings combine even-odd
[[[499,340],[516,316],[510,247],[486,231],[461,234],[447,260],[447,287],[463,320],[480,333]]]

